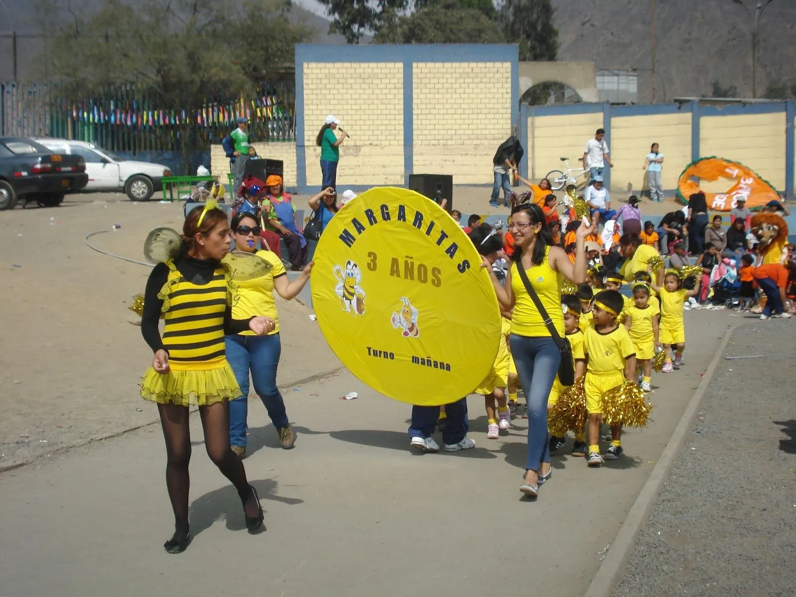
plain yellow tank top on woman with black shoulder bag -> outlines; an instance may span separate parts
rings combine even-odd
[[[534,265],[525,272],[528,280],[537,292],[539,300],[552,319],[553,325],[561,336],[564,336],[564,311],[561,310],[561,275],[553,271],[549,262],[550,248],[544,251],[544,261],[541,265]],[[550,336],[544,319],[539,314],[537,306],[525,290],[517,262],[511,263],[511,290],[514,293],[514,312],[511,318],[511,333],[518,336],[544,337]]]

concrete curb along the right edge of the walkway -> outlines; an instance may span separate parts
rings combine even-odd
[[[607,553],[603,564],[600,564],[595,577],[591,579],[591,583],[583,597],[611,597],[619,581],[624,577],[627,560],[630,559],[630,552],[634,548],[638,532],[641,530],[644,521],[646,521],[646,517],[650,513],[665,480],[669,478],[669,470],[672,467],[674,458],[685,441],[685,435],[693,423],[693,418],[702,401],[702,396],[708,389],[713,373],[715,373],[719,361],[724,356],[724,350],[727,348],[728,342],[732,338],[732,333],[737,327],[737,325],[729,326],[724,333],[724,338],[722,338],[719,348],[716,350],[716,355],[710,365],[708,365],[699,387],[696,388],[696,392],[694,392],[688,406],[685,408],[680,422],[674,428],[669,443],[663,449],[661,458],[658,458],[650,478],[647,479],[633,507],[627,513],[627,517],[622,523],[622,528],[619,529],[619,533],[611,545],[611,550]]]

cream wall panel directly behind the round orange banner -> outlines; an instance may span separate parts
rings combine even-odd
[[[771,182],[785,189],[784,111],[775,114],[704,116],[700,119],[700,157],[716,155],[741,162]],[[705,182],[703,189],[720,192],[728,181]]]

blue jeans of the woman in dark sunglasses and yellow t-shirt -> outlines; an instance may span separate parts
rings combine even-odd
[[[282,394],[276,387],[276,368],[279,365],[279,355],[282,353],[282,344],[279,334],[270,336],[227,336],[227,361],[235,372],[235,378],[240,385],[240,398],[229,401],[229,443],[232,446],[246,445],[246,431],[248,424],[248,376],[252,371],[254,391],[271,417],[274,427],[287,425],[287,412]]]

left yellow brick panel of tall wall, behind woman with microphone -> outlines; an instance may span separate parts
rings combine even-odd
[[[304,64],[306,184],[322,182],[315,144],[327,114],[351,135],[340,146],[338,187],[404,185],[404,65]]]

